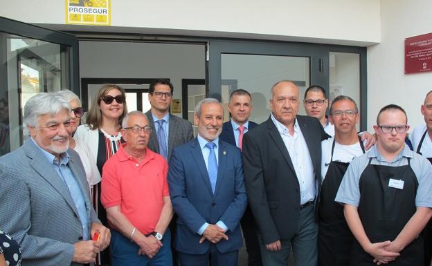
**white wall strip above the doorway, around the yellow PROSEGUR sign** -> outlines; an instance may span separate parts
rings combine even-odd
[[[380,41],[379,0],[111,0],[111,27],[64,25],[64,5],[64,0],[0,0],[0,16],[51,24],[62,30],[245,37],[357,46]]]

